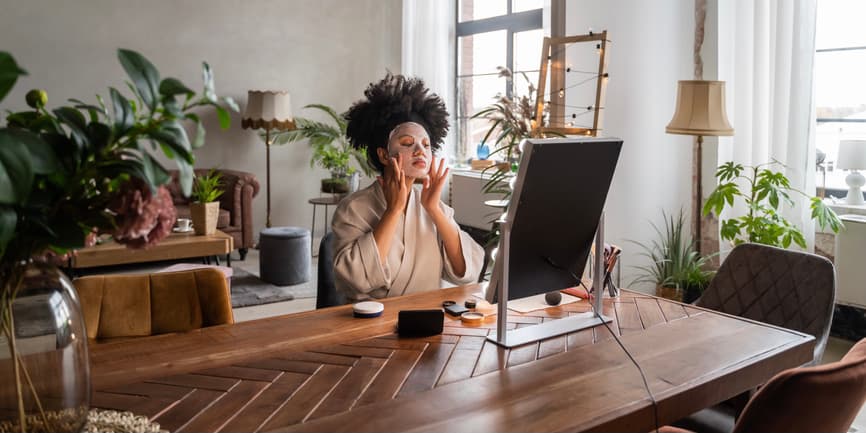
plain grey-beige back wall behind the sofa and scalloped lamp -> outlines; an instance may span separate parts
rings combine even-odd
[[[30,72],[4,102],[9,109],[25,108],[23,95],[35,87],[48,91],[49,106],[95,101],[108,86],[125,90],[119,47],[141,52],[163,76],[194,89],[207,60],[217,94],[234,97],[242,110],[249,89],[288,90],[295,115],[308,117],[304,105],[345,110],[387,69],[400,71],[400,0],[0,0],[0,11],[0,49]],[[256,174],[258,232],[265,224],[264,144],[241,129],[238,113],[228,131],[212,112],[205,122],[207,145],[196,151],[196,167]],[[310,168],[310,155],[306,144],[272,149],[274,225],[310,226],[307,199],[319,195],[327,177]]]

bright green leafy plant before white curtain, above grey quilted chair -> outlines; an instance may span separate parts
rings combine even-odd
[[[720,215],[725,207],[733,206],[734,201],[740,198],[745,202],[748,213],[741,217],[723,220],[722,239],[731,241],[735,245],[755,242],[788,248],[791,243],[795,243],[801,248],[806,248],[803,233],[782,216],[779,208],[783,203],[794,206],[791,193],[804,196],[807,194],[791,188],[790,181],[782,172],[769,168],[772,165],[782,164],[773,161],[755,167],[733,162],[720,165],[716,171],[719,185],[707,197],[703,213],[707,215],[713,212]],[[745,192],[740,189],[738,181],[748,184]],[[810,197],[809,207],[812,210],[812,219],[820,227],[829,227],[834,233],[839,232],[842,221],[820,198]]]

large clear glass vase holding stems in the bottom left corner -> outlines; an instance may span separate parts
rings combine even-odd
[[[0,432],[80,431],[90,404],[90,364],[78,296],[57,267],[21,266],[13,273],[23,273],[17,290],[16,277],[2,288]]]

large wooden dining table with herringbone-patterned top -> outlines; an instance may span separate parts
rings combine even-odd
[[[495,321],[398,338],[397,312],[462,302],[477,285],[91,348],[93,405],[171,431],[650,431],[641,377],[604,327],[512,350]],[[586,302],[508,316],[531,326]],[[605,301],[670,423],[812,357],[813,337],[624,291]]]

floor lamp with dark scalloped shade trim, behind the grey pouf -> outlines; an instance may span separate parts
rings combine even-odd
[[[247,93],[247,108],[241,120],[244,129],[265,130],[265,152],[267,164],[267,222],[271,226],[271,130],[295,129],[289,92],[250,90]]]

